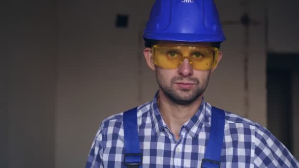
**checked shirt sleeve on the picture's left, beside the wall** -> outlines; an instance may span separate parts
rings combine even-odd
[[[85,168],[104,168],[102,163],[104,141],[103,124],[101,124],[92,142]]]

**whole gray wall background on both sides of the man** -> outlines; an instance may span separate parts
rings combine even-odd
[[[152,1],[1,4],[7,6],[1,12],[9,25],[0,28],[4,37],[0,143],[7,144],[0,150],[0,167],[82,168],[100,121],[153,97],[157,85],[141,54],[141,32]],[[250,2],[250,17],[258,24],[249,28],[248,93],[244,91],[245,29],[239,23],[224,24],[224,56],[205,99],[266,126],[265,10],[260,0]],[[289,11],[295,11],[296,5],[278,2],[268,2],[269,50],[299,53],[293,41],[298,24],[285,19],[293,17]],[[216,4],[222,22],[239,21],[243,13],[239,0],[216,0]],[[117,13],[129,14],[128,28],[115,28]],[[285,41],[292,43],[283,45]]]

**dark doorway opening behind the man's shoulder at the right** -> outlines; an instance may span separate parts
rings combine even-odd
[[[299,68],[297,54],[268,54],[267,108],[268,129],[293,153],[294,72]]]

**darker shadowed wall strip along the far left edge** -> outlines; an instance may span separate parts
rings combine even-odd
[[[53,168],[58,46],[55,3],[14,0],[5,10],[9,23],[1,27],[6,37],[4,41],[1,36],[1,59],[5,60],[1,68],[6,70],[1,71],[5,78],[0,88],[6,104],[3,111],[1,106],[4,116],[0,118],[6,131],[1,131],[4,157],[0,167]]]

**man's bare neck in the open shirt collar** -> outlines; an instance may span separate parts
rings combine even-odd
[[[179,105],[167,98],[162,91],[159,91],[157,96],[159,111],[165,123],[175,135],[176,140],[179,140],[181,126],[198,111],[202,99],[203,96],[201,95],[189,105]]]

